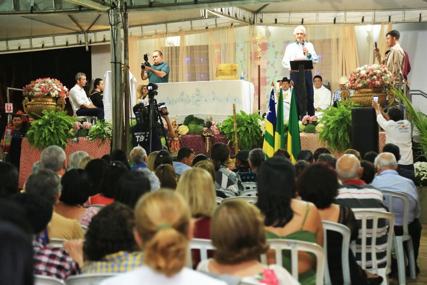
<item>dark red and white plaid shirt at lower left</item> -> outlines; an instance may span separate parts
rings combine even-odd
[[[80,273],[79,265],[63,248],[47,247],[37,237],[32,240],[32,246],[34,249],[34,274],[65,280],[70,275]]]

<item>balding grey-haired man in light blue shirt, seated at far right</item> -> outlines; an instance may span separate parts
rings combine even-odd
[[[414,246],[415,262],[418,258],[418,249],[421,239],[421,224],[418,220],[420,216],[420,205],[418,203],[418,192],[414,182],[399,175],[398,162],[392,153],[380,153],[375,159],[375,167],[378,170],[378,176],[374,178],[371,185],[380,190],[393,191],[405,194],[409,200],[408,209],[408,230],[412,237]],[[386,197],[386,206],[389,206],[389,197]],[[395,234],[403,235],[403,215],[404,201],[400,198],[393,198],[393,214],[395,215]],[[405,242],[406,243],[406,242]],[[407,247],[404,247],[407,248]],[[419,273],[418,265],[415,266],[417,274]]]

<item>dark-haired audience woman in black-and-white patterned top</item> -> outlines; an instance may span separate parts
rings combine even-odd
[[[211,159],[215,166],[215,189],[221,189],[239,196],[245,190],[238,173],[229,170],[226,165],[230,159],[230,149],[224,143],[217,143],[212,146]]]

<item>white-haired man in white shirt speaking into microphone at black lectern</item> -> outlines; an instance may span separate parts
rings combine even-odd
[[[282,60],[284,68],[291,69],[290,62],[293,60],[311,60],[313,64],[319,62],[319,57],[314,51],[313,44],[304,41],[306,30],[304,26],[297,26],[293,32],[295,35],[295,40],[293,43],[288,44],[285,50],[285,55]],[[313,91],[313,74],[311,69],[305,70],[305,89],[307,91],[307,114],[310,116],[314,115],[314,91]],[[298,70],[290,70],[290,79],[294,82],[295,88],[295,100],[299,106],[299,80],[298,80]],[[305,115],[305,114],[300,114]]]

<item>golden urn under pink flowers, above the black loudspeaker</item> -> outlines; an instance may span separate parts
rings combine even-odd
[[[347,96],[346,96],[347,95]],[[384,105],[388,101],[388,106],[395,101],[395,94],[392,90],[388,90],[387,93],[383,93],[382,88],[357,88],[354,90],[354,94],[350,95],[348,90],[344,90],[341,93],[341,97],[350,97],[351,101],[362,107],[371,107],[374,96],[378,96],[378,105],[384,108]],[[388,100],[387,100],[388,96]]]

